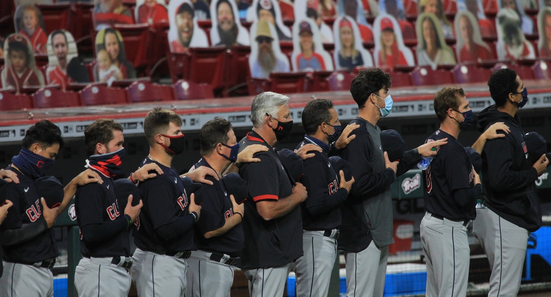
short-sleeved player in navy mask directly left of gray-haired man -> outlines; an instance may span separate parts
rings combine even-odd
[[[190,171],[201,166],[214,169],[219,178],[232,163],[246,163],[244,156],[253,152],[267,151],[266,146],[247,147],[248,150],[239,154],[239,143],[231,123],[223,118],[214,118],[203,125],[199,132],[201,139],[201,160]],[[255,150],[256,149],[256,150]],[[252,157],[252,154],[251,154]],[[195,224],[197,235],[197,251],[192,251],[187,260],[188,270],[186,296],[230,296],[234,271],[230,267],[236,265],[245,240],[241,221],[245,216],[242,200],[247,197],[237,197],[230,191],[236,181],[226,177],[239,174],[231,173],[223,179],[208,178],[213,185],[204,184],[201,193],[201,217]],[[230,184],[228,184],[230,183]],[[246,191],[246,183],[242,180]],[[237,204],[236,199],[240,204]]]

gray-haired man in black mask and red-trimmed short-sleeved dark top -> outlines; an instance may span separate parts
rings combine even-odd
[[[245,202],[243,230],[245,245],[241,268],[249,279],[250,296],[282,296],[293,261],[302,256],[302,219],[300,202],[307,197],[306,188],[293,186],[279,161],[273,145],[293,128],[288,106],[289,97],[274,92],[257,95],[251,106],[253,129],[239,142],[239,150],[260,144],[269,150],[258,152],[258,163],[244,164],[239,174],[247,181],[249,196]],[[297,154],[311,157],[315,145],[301,147]]]

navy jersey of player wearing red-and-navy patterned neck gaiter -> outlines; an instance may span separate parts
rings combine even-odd
[[[90,183],[79,186],[75,195],[74,207],[77,213],[77,222],[80,227],[80,252],[87,257],[114,257],[130,255],[127,221],[123,211],[118,207],[117,195],[113,180],[98,173],[103,184]],[[112,221],[125,220],[123,229],[112,237],[102,238],[96,242],[85,240],[89,229],[94,224],[106,224]],[[90,232],[90,231],[88,231]]]

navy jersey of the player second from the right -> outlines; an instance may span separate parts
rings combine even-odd
[[[438,155],[424,171],[425,208],[427,211],[452,219],[463,221],[474,219],[478,196],[470,196],[466,206],[456,201],[453,192],[474,187],[474,169],[463,145],[445,131],[436,130],[426,142],[447,138],[446,145],[437,146]],[[425,142],[425,143],[426,143]]]

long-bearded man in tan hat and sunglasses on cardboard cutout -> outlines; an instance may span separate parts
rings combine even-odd
[[[289,65],[276,57],[272,48],[274,38],[267,21],[259,20],[256,27],[258,55],[252,64],[252,77],[266,79],[272,72],[289,72]]]

